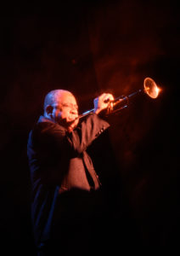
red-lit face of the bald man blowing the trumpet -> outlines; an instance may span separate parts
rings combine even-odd
[[[78,124],[78,106],[76,98],[67,92],[62,93],[53,107],[53,120],[72,131]]]

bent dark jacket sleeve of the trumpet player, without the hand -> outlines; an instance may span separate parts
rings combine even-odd
[[[46,129],[43,129],[41,134],[42,140],[45,138],[46,143],[48,141],[52,143],[53,141],[55,148],[61,152],[68,151],[69,154],[70,152],[71,154],[82,154],[93,143],[93,140],[109,126],[108,122],[98,117],[96,113],[92,113],[71,133],[67,133],[64,127],[52,123]]]

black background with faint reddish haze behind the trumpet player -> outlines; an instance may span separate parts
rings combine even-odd
[[[82,113],[100,93],[128,95],[146,77],[155,79],[160,96],[143,96],[111,117],[110,130],[89,154],[107,195],[117,250],[122,223],[130,247],[178,249],[179,21],[176,1],[2,6],[0,225],[7,255],[23,254],[24,247],[24,255],[34,255],[26,142],[44,96],[70,90]]]

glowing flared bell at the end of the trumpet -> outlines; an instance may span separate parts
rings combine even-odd
[[[149,97],[153,99],[157,98],[159,94],[159,88],[155,84],[155,81],[150,78],[143,80],[143,90]]]

